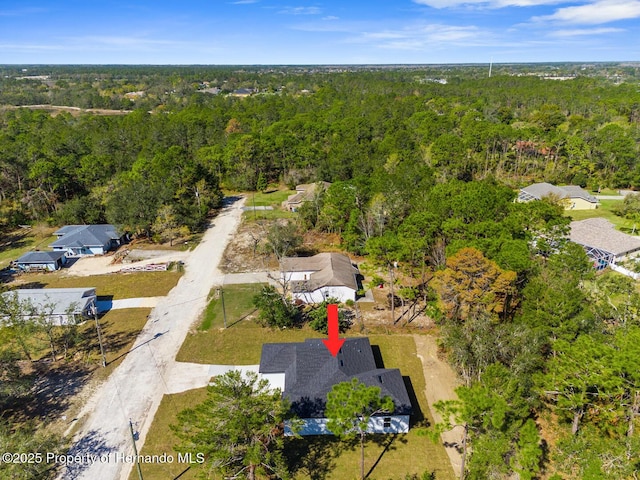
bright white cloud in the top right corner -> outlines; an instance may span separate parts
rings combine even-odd
[[[638,17],[640,0],[598,0],[586,5],[559,8],[551,15],[533,17],[532,21],[599,25]]]

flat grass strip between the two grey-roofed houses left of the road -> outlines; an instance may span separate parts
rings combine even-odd
[[[20,276],[20,287],[96,287],[98,296],[113,300],[164,296],[176,286],[183,272],[110,273],[89,277],[64,277],[56,273],[28,273]]]

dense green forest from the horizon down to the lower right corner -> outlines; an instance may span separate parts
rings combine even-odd
[[[513,201],[535,181],[640,189],[637,66],[26,70],[2,70],[0,104],[131,112],[4,108],[2,228],[161,237],[200,228],[223,189],[332,182],[300,224],[438,300],[467,478],[640,471],[637,286],[595,276],[560,206]]]

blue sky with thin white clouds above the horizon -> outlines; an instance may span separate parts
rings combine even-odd
[[[640,60],[640,0],[0,0],[0,64]]]

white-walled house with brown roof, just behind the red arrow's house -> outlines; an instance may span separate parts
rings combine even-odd
[[[281,269],[294,299],[306,303],[321,303],[327,298],[340,302],[356,299],[360,272],[342,253],[285,257]]]

